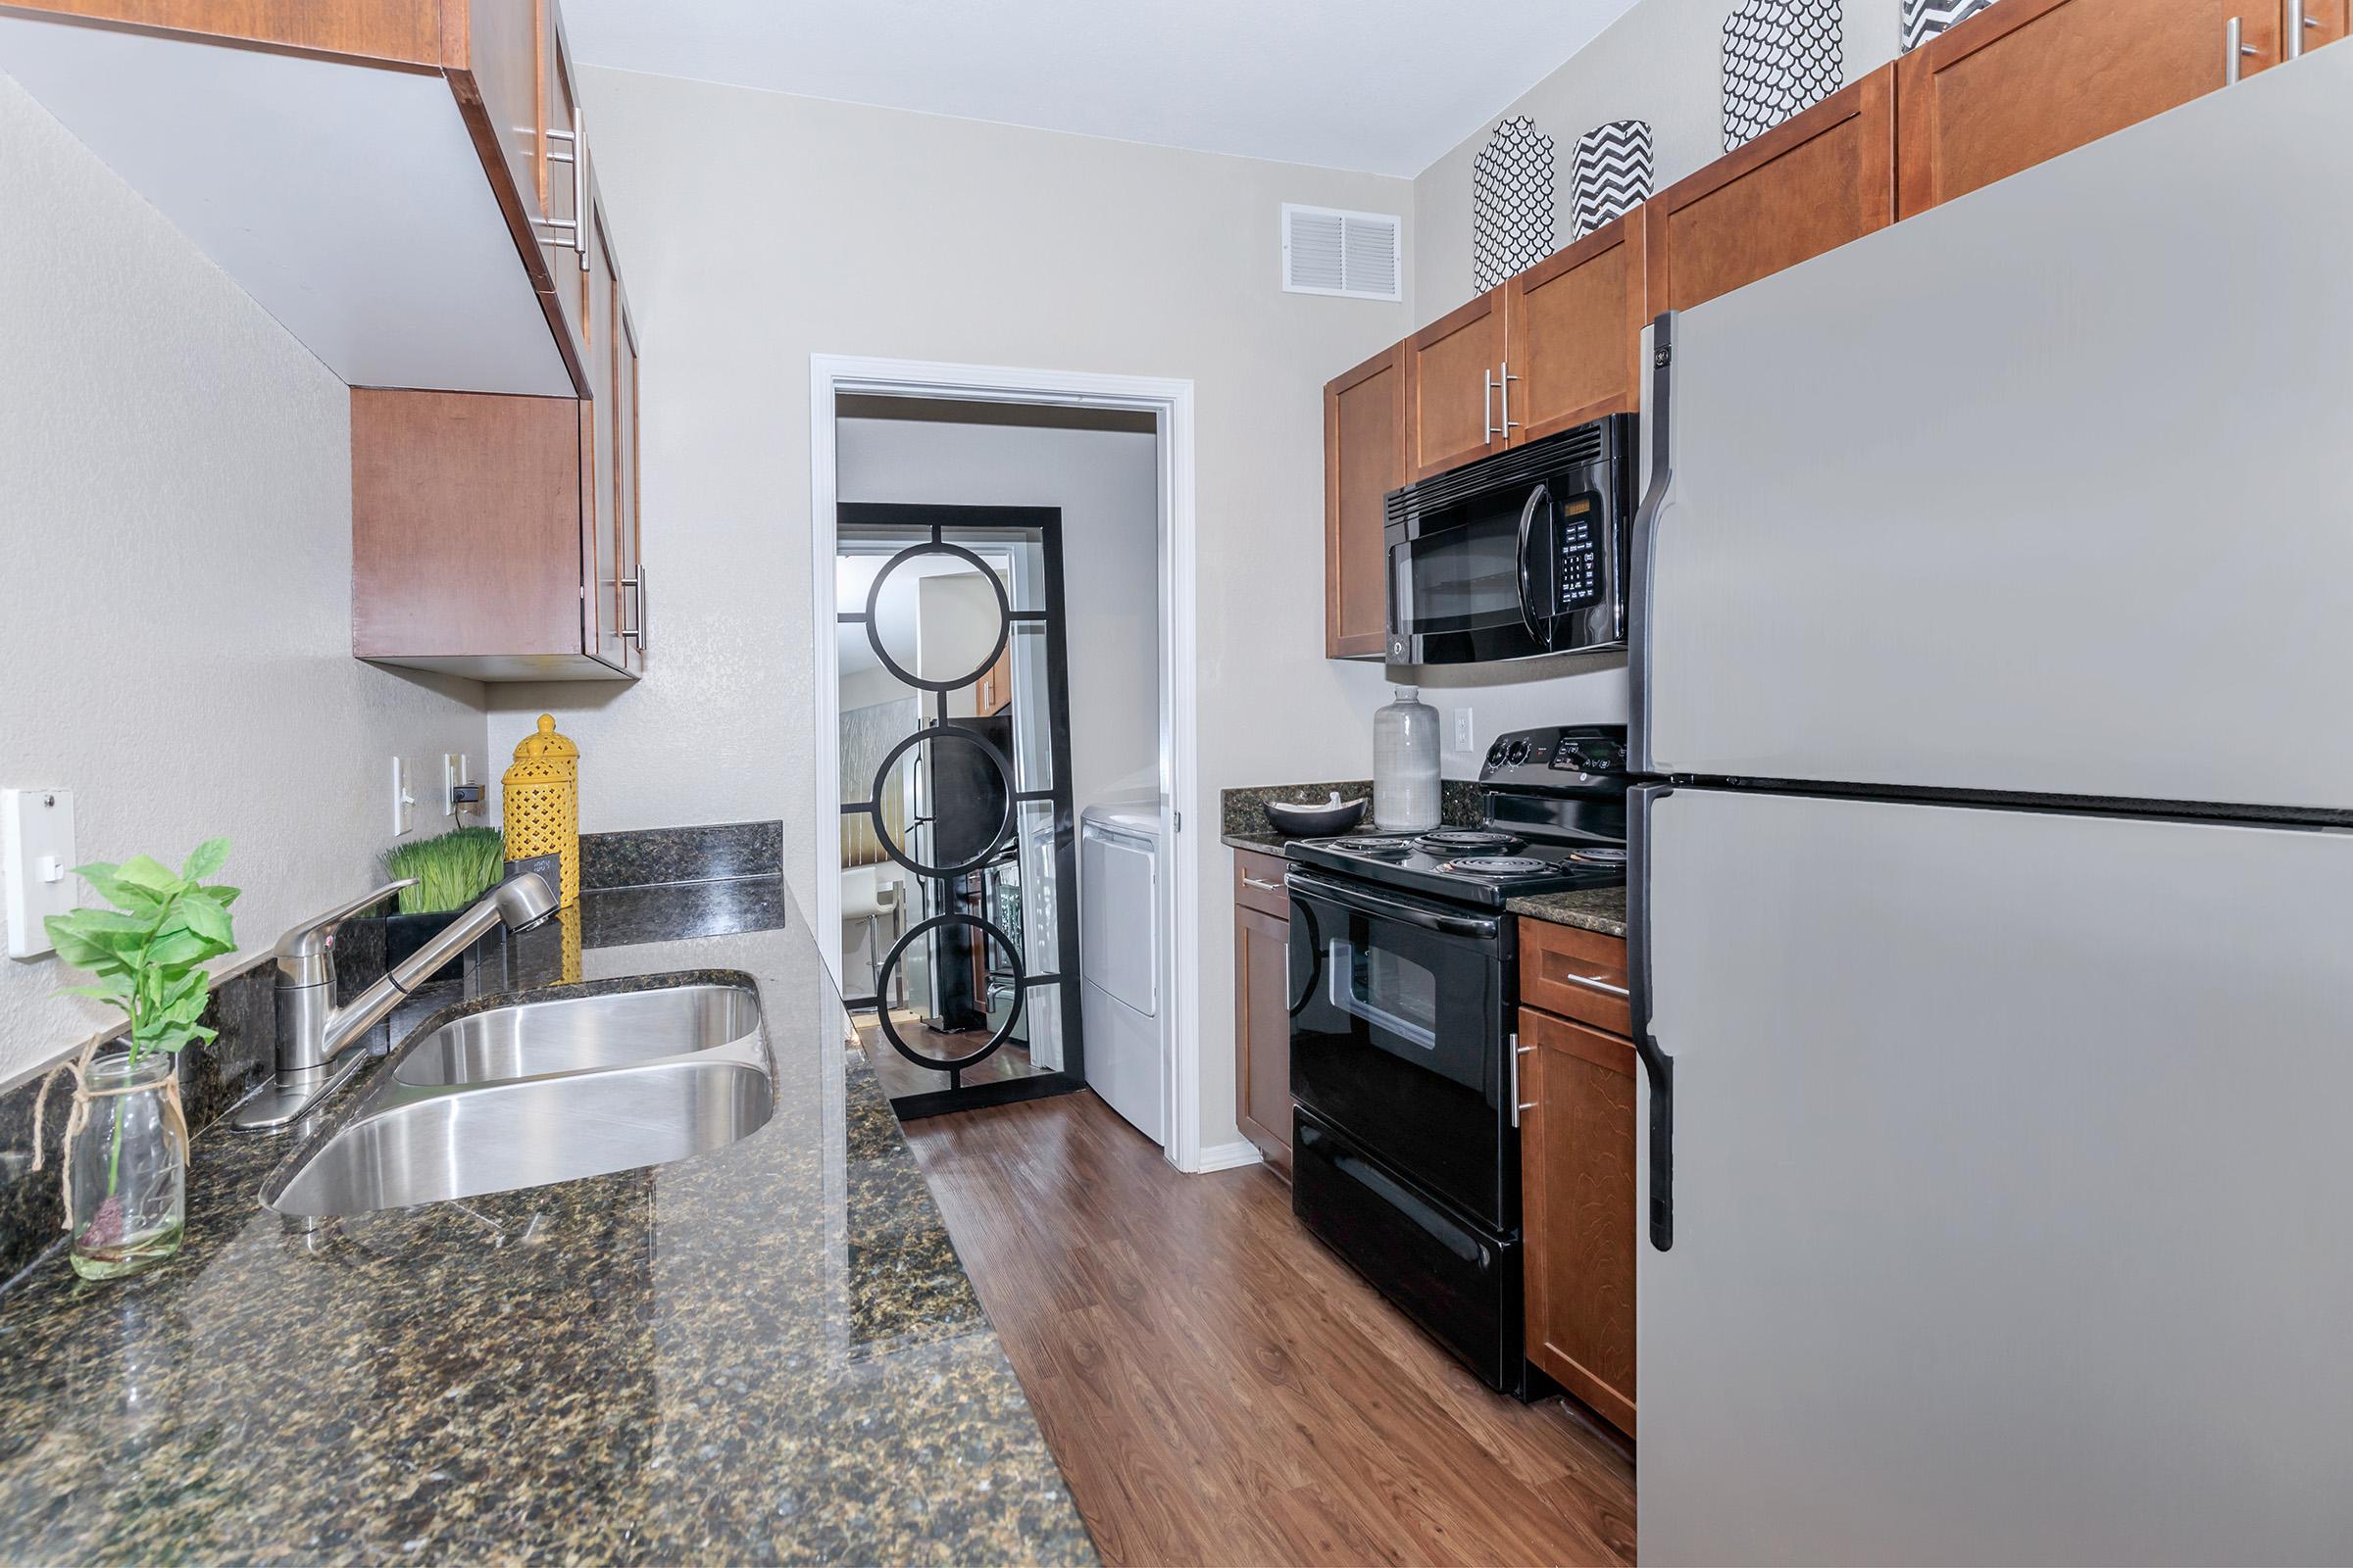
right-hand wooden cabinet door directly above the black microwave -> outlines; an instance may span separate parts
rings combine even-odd
[[[1640,209],[1504,284],[1513,444],[1638,407],[1642,299]]]

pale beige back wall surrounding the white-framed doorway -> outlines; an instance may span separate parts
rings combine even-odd
[[[1205,1143],[1235,1140],[1233,903],[1217,790],[1372,755],[1379,670],[1322,656],[1320,388],[1402,303],[1282,294],[1280,205],[1407,212],[1412,183],[586,71],[645,350],[654,675],[496,691],[548,708],[584,827],[786,820],[814,907],[812,353],[1195,383]]]

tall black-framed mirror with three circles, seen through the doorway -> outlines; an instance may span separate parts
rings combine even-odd
[[[901,1119],[1080,1088],[1061,515],[842,503],[835,536],[859,1039]]]

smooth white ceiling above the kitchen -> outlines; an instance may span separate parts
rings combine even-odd
[[[560,2],[591,66],[1402,176],[1633,5]]]

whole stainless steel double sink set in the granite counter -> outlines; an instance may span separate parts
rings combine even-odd
[[[748,983],[518,999],[405,1044],[261,1201],[348,1215],[567,1182],[708,1154],[769,1114]]]

